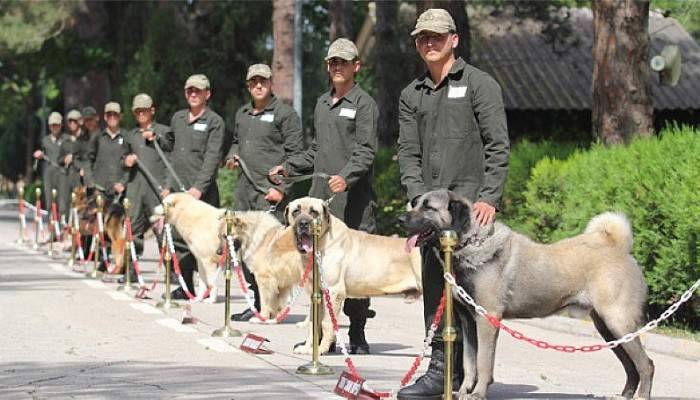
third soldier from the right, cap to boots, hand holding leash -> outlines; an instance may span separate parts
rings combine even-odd
[[[301,153],[304,148],[301,121],[294,109],[272,93],[272,71],[269,66],[251,65],[246,83],[252,101],[236,112],[233,144],[226,156],[226,166],[238,168],[243,159],[251,176],[245,173],[239,175],[234,209],[268,210],[270,205],[274,205],[275,215],[281,219],[280,211],[289,201],[287,194],[290,185],[270,185],[267,172],[287,158]],[[255,294],[255,307],[259,310],[258,285],[253,274],[245,265],[243,267],[246,281],[251,284]],[[233,314],[231,319],[247,321],[252,317],[253,311],[248,308],[242,313]]]

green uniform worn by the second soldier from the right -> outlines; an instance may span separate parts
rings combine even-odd
[[[342,176],[348,188],[330,202],[331,212],[350,228],[373,233],[376,195],[372,164],[377,149],[377,104],[358,85],[335,104],[332,98],[329,91],[316,102],[315,137],[309,150],[283,165],[292,174],[313,169],[314,173]],[[327,179],[313,179],[309,196],[328,199],[332,194]]]

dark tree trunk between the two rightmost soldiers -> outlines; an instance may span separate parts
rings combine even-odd
[[[403,75],[397,71],[395,62],[402,58],[398,34],[399,3],[397,0],[378,1],[376,7],[374,73],[379,107],[377,131],[379,145],[391,147],[399,137],[399,95]]]

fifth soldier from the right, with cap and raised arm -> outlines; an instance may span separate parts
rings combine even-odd
[[[163,155],[166,155],[172,151],[175,138],[170,127],[154,121],[156,109],[151,96],[145,93],[137,94],[132,102],[131,111],[138,126],[128,132],[125,139],[128,154],[124,158],[124,166],[129,168],[126,197],[131,204],[129,217],[136,251],[141,254],[143,234],[149,226],[153,209],[161,203],[160,193],[168,177],[154,142],[157,142],[164,152]],[[150,173],[155,181],[149,180],[146,173]],[[160,243],[160,240],[158,242]]]

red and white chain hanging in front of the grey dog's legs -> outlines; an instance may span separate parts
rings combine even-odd
[[[603,349],[614,349],[615,347],[624,344],[624,343],[629,343],[632,340],[636,339],[640,335],[651,331],[652,329],[656,328],[659,323],[662,321],[668,319],[673,313],[675,313],[678,308],[688,301],[690,297],[693,295],[693,293],[700,287],[700,279],[698,279],[688,290],[686,290],[681,298],[673,303],[666,311],[664,311],[661,316],[653,321],[649,321],[644,327],[638,329],[636,332],[628,333],[621,338],[617,340],[611,340],[609,342],[605,343],[600,343],[600,344],[594,344],[591,346],[568,346],[568,345],[553,345],[551,343],[548,343],[544,340],[538,340],[538,339],[533,339],[528,336],[525,336],[523,333],[518,332],[515,329],[512,329],[508,326],[506,326],[501,320],[499,320],[497,317],[489,314],[486,309],[480,305],[478,305],[474,299],[469,295],[469,293],[464,290],[461,286],[457,285],[457,282],[455,281],[454,276],[450,274],[445,274],[444,278],[447,282],[449,282],[453,287],[455,288],[455,291],[459,295],[459,297],[467,304],[472,306],[474,310],[476,311],[477,314],[481,315],[482,317],[486,318],[486,320],[489,321],[491,325],[493,325],[494,328],[501,329],[506,331],[508,334],[510,334],[513,338],[517,340],[522,340],[524,342],[530,343],[533,346],[537,346],[540,349],[551,349],[551,350],[556,350],[556,351],[561,351],[564,353],[575,353],[577,351],[583,352],[583,353],[590,353],[593,351],[599,351]]]

